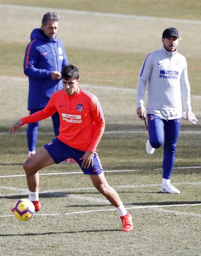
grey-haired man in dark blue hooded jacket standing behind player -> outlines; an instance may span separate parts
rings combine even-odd
[[[63,88],[61,69],[68,64],[63,42],[57,37],[59,16],[48,12],[40,29],[31,32],[23,64],[29,80],[28,110],[35,113],[47,105],[52,93]],[[59,115],[52,115],[55,135],[59,135]],[[35,154],[39,122],[28,125],[28,156]]]

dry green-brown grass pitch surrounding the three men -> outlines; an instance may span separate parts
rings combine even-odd
[[[0,5],[0,255],[200,255],[200,1],[0,0]],[[23,9],[25,5],[29,7]],[[28,114],[23,55],[32,29],[40,27],[47,11],[60,15],[58,35],[70,63],[80,69],[81,87],[97,95],[102,105],[106,131],[99,157],[108,183],[133,217],[131,233],[120,231],[116,210],[76,164],[40,171],[42,209],[31,221],[11,214],[13,203],[27,197],[22,169],[26,126],[15,136],[7,132]],[[182,37],[178,50],[188,61],[192,106],[199,120],[197,125],[182,121],[171,180],[180,195],[159,193],[162,148],[151,156],[145,153],[147,132],[135,107],[142,61],[161,47],[162,31],[169,26]],[[51,120],[42,121],[37,149],[52,138]]]

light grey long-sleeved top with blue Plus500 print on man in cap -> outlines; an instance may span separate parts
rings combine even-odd
[[[162,46],[147,55],[137,85],[137,107],[143,106],[148,80],[147,113],[164,119],[180,118],[181,101],[185,111],[192,110],[187,63],[177,50],[170,52]]]

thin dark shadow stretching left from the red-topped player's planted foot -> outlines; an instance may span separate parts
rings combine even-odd
[[[37,236],[37,235],[57,235],[57,234],[78,234],[78,233],[99,233],[121,231],[120,229],[99,229],[99,230],[80,230],[80,231],[64,231],[64,232],[46,232],[46,233],[25,233],[25,234],[0,234],[0,237],[9,236]],[[122,231],[121,231],[122,232]]]

